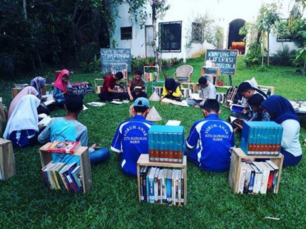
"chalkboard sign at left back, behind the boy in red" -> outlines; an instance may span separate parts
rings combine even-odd
[[[102,71],[110,71],[111,64],[127,64],[131,72],[131,49],[100,49]]]

